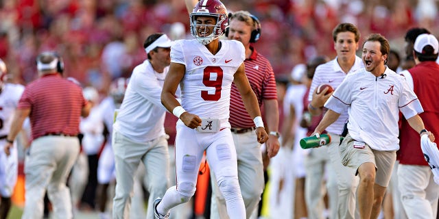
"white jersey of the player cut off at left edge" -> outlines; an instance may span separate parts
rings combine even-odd
[[[0,136],[8,135],[14,110],[24,90],[21,84],[5,83],[0,94]]]

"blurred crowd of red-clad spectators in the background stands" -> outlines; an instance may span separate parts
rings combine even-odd
[[[439,33],[435,0],[224,0],[229,11],[249,10],[262,23],[257,49],[276,75],[316,55],[335,57],[331,31],[350,22],[361,35],[381,33],[403,53],[403,36],[413,26]],[[36,78],[35,57],[56,50],[66,77],[107,92],[117,77],[129,77],[145,60],[145,37],[161,31],[191,38],[181,0],[3,0],[0,1],[0,58],[14,81]],[[360,44],[361,44],[360,40]]]

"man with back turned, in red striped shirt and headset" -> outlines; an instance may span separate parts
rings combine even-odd
[[[38,55],[36,68],[39,78],[25,87],[12,118],[5,153],[10,154],[14,139],[29,116],[32,143],[25,157],[23,218],[43,218],[46,189],[54,218],[73,218],[66,181],[80,151],[80,116],[88,116],[91,105],[80,86],[62,78],[63,64],[56,53]]]

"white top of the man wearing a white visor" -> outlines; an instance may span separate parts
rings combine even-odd
[[[113,129],[134,142],[165,135],[166,109],[161,92],[168,70],[166,67],[163,73],[156,73],[148,60],[134,68]]]

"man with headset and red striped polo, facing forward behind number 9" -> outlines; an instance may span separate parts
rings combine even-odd
[[[270,62],[254,49],[252,43],[261,36],[261,23],[247,11],[229,14],[229,27],[226,36],[229,40],[238,40],[246,49],[246,76],[257,96],[259,107],[264,105],[265,122],[270,138],[265,143],[263,155],[274,157],[279,150],[278,103],[274,73]],[[263,159],[261,144],[255,138],[254,123],[248,116],[241,95],[235,84],[230,92],[230,125],[237,151],[238,179],[242,198],[246,205],[247,218],[257,218],[257,206],[264,188]],[[211,172],[213,185],[211,199],[211,218],[227,218],[226,203],[219,192],[215,176]]]

